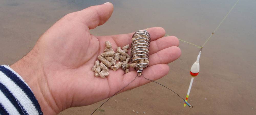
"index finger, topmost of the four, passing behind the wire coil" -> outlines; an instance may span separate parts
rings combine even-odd
[[[147,31],[150,34],[151,41],[156,40],[158,38],[162,38],[163,36],[165,36],[165,30],[164,30],[164,28],[161,28],[161,27],[148,28]],[[115,41],[115,43],[118,46],[123,47],[127,44],[132,43],[131,39],[132,39],[133,34],[134,34],[134,32],[128,33],[128,34],[114,35],[114,36],[111,36],[111,37],[113,38],[113,40]]]

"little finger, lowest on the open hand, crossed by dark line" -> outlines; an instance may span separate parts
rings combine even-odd
[[[162,78],[163,76],[165,76],[166,74],[168,74],[169,72],[169,66],[166,64],[157,64],[157,65],[153,65],[150,66],[148,68],[146,68],[142,74],[150,80],[157,80]],[[123,79],[123,87],[125,87],[127,84],[129,84],[137,75],[136,71],[132,71],[129,72],[127,74],[124,75],[124,79]],[[129,90],[138,86],[142,86],[146,83],[151,82],[150,80],[145,79],[143,76],[141,77],[136,77],[136,79],[130,84],[128,85],[123,91],[125,90]]]

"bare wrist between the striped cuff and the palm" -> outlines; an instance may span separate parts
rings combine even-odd
[[[21,60],[10,66],[17,72],[33,91],[44,114],[57,114],[56,103],[52,103],[52,96],[47,85],[40,59],[33,54],[33,50]],[[55,102],[53,100],[53,102]]]

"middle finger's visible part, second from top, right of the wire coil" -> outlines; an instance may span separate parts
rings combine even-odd
[[[167,36],[150,42],[149,53],[154,54],[165,48],[179,46],[179,40],[175,36]]]

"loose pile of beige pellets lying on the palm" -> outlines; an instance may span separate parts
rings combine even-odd
[[[98,56],[98,60],[92,67],[95,77],[107,77],[109,75],[109,68],[116,71],[121,67],[125,73],[128,73],[130,67],[129,62],[131,59],[131,56],[127,54],[130,49],[129,44],[122,47],[122,49],[121,47],[117,47],[116,52],[112,49],[112,45],[109,41],[105,41],[105,45],[104,53],[101,53]]]

